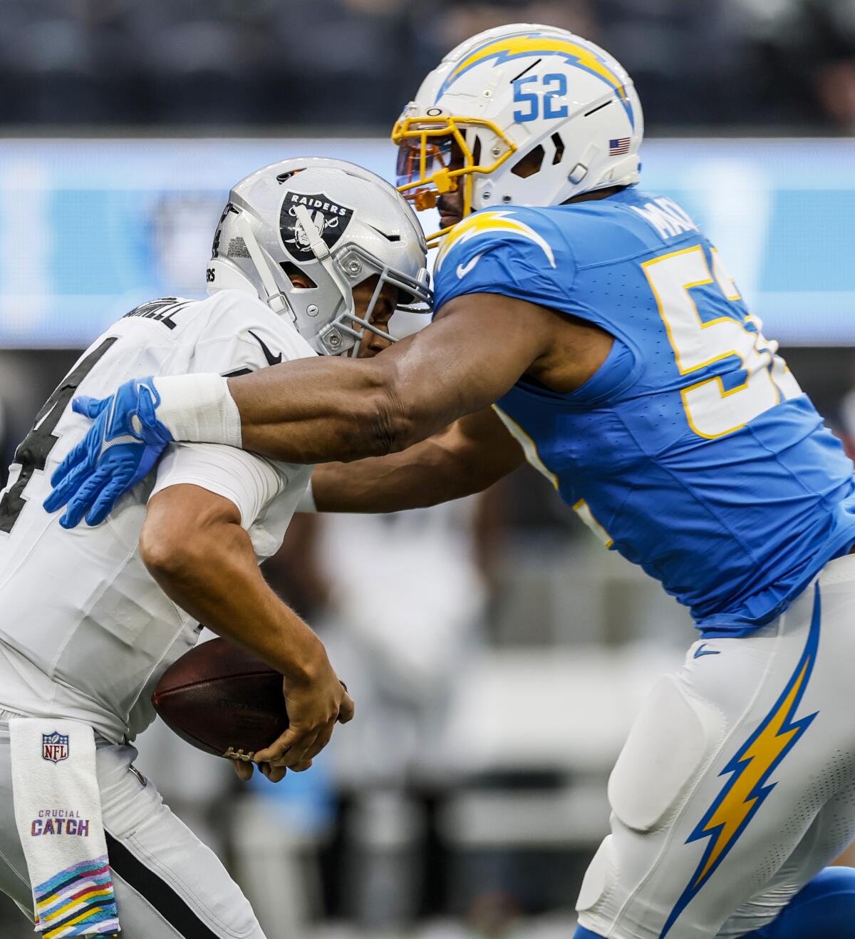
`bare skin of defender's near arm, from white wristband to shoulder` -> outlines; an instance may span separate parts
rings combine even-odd
[[[549,349],[557,321],[493,294],[451,300],[442,315],[374,359],[301,360],[229,379],[242,447],[291,463],[398,453],[497,401]]]

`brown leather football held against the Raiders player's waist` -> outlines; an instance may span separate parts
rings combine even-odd
[[[193,747],[252,760],[288,727],[282,675],[225,639],[211,639],[163,672],[151,702]]]

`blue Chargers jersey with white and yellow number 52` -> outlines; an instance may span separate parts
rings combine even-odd
[[[605,545],[661,581],[704,635],[770,622],[855,543],[843,447],[671,199],[630,187],[476,212],[440,247],[435,308],[471,293],[615,337],[575,392],[524,376],[496,411]]]

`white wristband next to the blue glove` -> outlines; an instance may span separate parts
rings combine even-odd
[[[176,440],[241,445],[240,412],[221,375],[170,375],[154,379],[157,416]]]

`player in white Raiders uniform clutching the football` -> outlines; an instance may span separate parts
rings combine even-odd
[[[372,355],[393,341],[387,324],[399,305],[430,299],[424,262],[419,223],[380,178],[341,161],[267,166],[230,194],[209,298],[131,311],[39,411],[0,497],[0,889],[28,916],[10,717],[71,718],[96,731],[122,935],[263,939],[220,861],[133,769],[130,741],[153,719],[152,689],[195,643],[199,622],[285,676],[291,727],[257,754],[272,780],[311,765],[336,721],[354,713],[321,642],[258,570],[281,545],[311,468],[177,444],[107,521],[68,531],[42,502],[89,425],[72,396],[103,396],[141,373],[238,376],[318,353]]]

